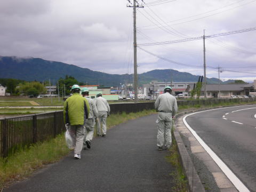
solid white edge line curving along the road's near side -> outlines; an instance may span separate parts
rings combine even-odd
[[[231,107],[225,107],[225,108],[231,108]],[[219,108],[219,109],[223,109],[223,108]],[[211,110],[218,110],[218,109],[210,109],[210,110],[205,110],[205,111],[211,111]],[[223,171],[223,173],[225,173],[227,175],[227,177],[233,183],[233,185],[236,187],[236,189],[239,192],[250,192],[250,190],[247,189],[247,187],[244,185],[244,183],[242,183],[242,181],[240,181],[236,177],[236,175],[228,168],[228,166],[224,162],[221,161],[221,159],[213,152],[213,150],[209,146],[206,145],[206,143],[197,135],[197,133],[186,122],[186,118],[188,116],[194,115],[197,113],[202,113],[205,111],[198,111],[196,113],[186,115],[185,117],[183,117],[184,124],[187,126],[189,131],[194,135],[194,137],[197,139],[197,141],[202,145],[202,147],[207,151],[207,153],[212,157],[213,161],[215,163],[217,163],[217,165],[220,167],[220,169]]]

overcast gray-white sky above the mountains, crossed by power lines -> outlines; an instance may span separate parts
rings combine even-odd
[[[256,27],[255,0],[143,1],[145,7],[137,10],[138,44],[199,37],[204,29],[207,36]],[[109,74],[132,74],[133,9],[127,4],[131,5],[127,0],[1,1],[0,55],[60,61]],[[206,38],[205,46],[206,66],[222,67],[222,81],[256,79],[256,30]],[[202,39],[141,48],[188,67],[138,49],[139,74],[175,69],[203,75]],[[206,76],[218,78],[218,69],[207,68]]]

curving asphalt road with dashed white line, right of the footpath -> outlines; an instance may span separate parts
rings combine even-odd
[[[256,105],[190,115],[190,127],[250,191],[256,191]]]

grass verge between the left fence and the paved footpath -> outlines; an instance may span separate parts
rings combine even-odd
[[[155,113],[155,110],[143,110],[139,113],[113,114],[107,118],[108,129],[129,119],[135,119]],[[94,132],[96,133],[96,131]],[[22,180],[46,164],[54,163],[65,157],[67,148],[63,134],[57,138],[37,143],[26,150],[19,150],[8,159],[0,158],[0,191],[10,183]]]

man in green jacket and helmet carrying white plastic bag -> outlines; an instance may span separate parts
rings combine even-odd
[[[74,149],[74,158],[76,159],[81,159],[84,126],[90,111],[89,102],[79,94],[80,90],[78,85],[71,87],[73,95],[65,101],[63,109],[64,123],[68,124],[68,131],[76,143]]]

